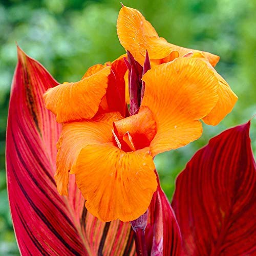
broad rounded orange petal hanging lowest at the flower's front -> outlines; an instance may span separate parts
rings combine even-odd
[[[113,143],[88,145],[72,169],[88,211],[101,221],[144,214],[157,188],[149,148],[125,153]]]

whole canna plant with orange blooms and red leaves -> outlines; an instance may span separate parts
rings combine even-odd
[[[249,123],[190,160],[172,206],[153,161],[233,108],[219,57],[169,44],[125,6],[117,34],[126,54],[62,84],[17,47],[6,162],[20,253],[252,254]]]

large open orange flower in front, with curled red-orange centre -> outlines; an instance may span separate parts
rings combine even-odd
[[[108,76],[109,68],[84,79],[101,77],[102,72]],[[201,59],[163,63],[147,71],[142,80],[146,86],[139,112],[126,118],[119,112],[97,110],[92,118],[92,114],[83,117],[87,108],[99,105],[102,93],[96,98],[92,91],[88,105],[81,106],[70,93],[76,90],[75,83],[69,84],[70,89],[59,86],[46,93],[49,109],[57,109],[59,120],[66,122],[57,144],[58,191],[67,195],[69,173],[75,174],[87,209],[102,221],[132,221],[146,211],[157,188],[153,157],[198,139],[202,134],[199,120],[218,101],[218,79]],[[105,85],[91,82],[105,92]],[[86,83],[83,90],[91,90],[92,83]],[[69,104],[70,95],[77,106],[67,115],[60,108]],[[54,106],[49,104],[53,101],[57,102]]]

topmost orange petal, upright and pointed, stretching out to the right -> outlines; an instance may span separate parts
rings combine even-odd
[[[154,60],[164,58],[173,60],[173,57],[176,56],[176,54],[172,54],[173,51],[179,52],[180,57],[190,51],[201,52],[212,66],[219,61],[217,55],[169,44],[164,38],[159,37],[153,26],[138,10],[133,8],[125,6],[121,8],[117,19],[117,34],[121,45],[130,51],[142,66],[146,50],[150,58],[153,59],[153,64]]]

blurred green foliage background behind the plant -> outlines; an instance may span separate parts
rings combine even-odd
[[[233,112],[216,127],[204,125],[198,141],[156,157],[162,187],[171,199],[175,177],[198,148],[255,114],[256,1],[123,0],[123,4],[139,9],[169,42],[220,55],[217,71],[239,96]],[[59,82],[76,81],[88,67],[124,53],[116,35],[120,7],[117,0],[0,2],[0,255],[18,254],[5,174],[6,121],[17,60],[15,40]],[[251,138],[255,149],[255,122]]]

